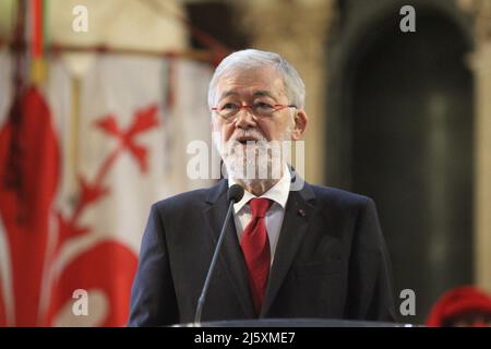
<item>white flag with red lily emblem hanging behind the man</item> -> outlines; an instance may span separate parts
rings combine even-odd
[[[75,76],[62,56],[51,58],[43,89],[24,101],[33,124],[43,122],[28,146],[44,155],[33,155],[23,178],[45,198],[21,231],[13,194],[2,192],[0,315],[13,315],[0,325],[124,325],[151,205],[212,182],[185,176],[185,143],[209,139],[207,64],[101,53],[86,65]],[[0,98],[0,111],[3,105]],[[8,120],[0,123],[2,182],[11,170]]]

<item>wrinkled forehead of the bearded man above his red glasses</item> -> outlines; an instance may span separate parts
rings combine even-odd
[[[285,96],[285,84],[282,74],[274,68],[233,69],[224,73],[216,85],[215,100],[228,96],[277,99]]]

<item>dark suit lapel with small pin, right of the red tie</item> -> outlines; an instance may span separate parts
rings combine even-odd
[[[308,183],[304,183],[301,191],[289,193],[260,317],[267,314],[308,231],[314,212],[314,206],[309,201],[313,198],[315,195]]]

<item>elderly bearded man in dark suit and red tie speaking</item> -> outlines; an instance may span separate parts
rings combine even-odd
[[[306,88],[274,52],[237,51],[208,89],[213,140],[227,176],[153,205],[129,325],[193,322],[227,207],[203,321],[394,320],[392,275],[374,203],[303,182],[278,144],[301,140]],[[282,147],[279,147],[282,149]],[[263,155],[263,156],[260,156]],[[228,191],[243,189],[233,206]],[[231,204],[230,204],[231,205]]]

